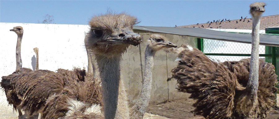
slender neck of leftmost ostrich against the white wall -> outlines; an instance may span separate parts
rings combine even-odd
[[[16,69],[15,72],[22,72],[22,61],[21,61],[21,40],[22,40],[21,35],[17,35],[17,42],[16,42],[16,48],[15,48],[15,58],[16,58]]]

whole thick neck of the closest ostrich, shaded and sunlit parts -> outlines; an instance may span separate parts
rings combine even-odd
[[[120,59],[121,55],[110,58],[96,55],[102,81],[105,119],[127,118],[129,116],[125,88],[122,87],[123,84],[120,80]],[[118,96],[119,90],[120,96]],[[123,109],[127,111],[123,111]],[[125,112],[127,112],[126,115],[123,114]]]

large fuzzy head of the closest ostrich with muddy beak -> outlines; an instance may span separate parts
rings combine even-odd
[[[130,45],[141,43],[141,36],[132,31],[137,18],[121,14],[104,14],[91,19],[90,31],[84,40],[85,47],[95,55],[113,57],[121,55]]]

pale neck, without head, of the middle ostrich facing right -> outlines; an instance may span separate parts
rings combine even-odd
[[[139,100],[133,106],[133,112],[139,114],[133,115],[140,115],[143,117],[145,110],[148,106],[149,99],[150,99],[150,92],[151,92],[151,84],[152,84],[152,69],[154,64],[154,55],[156,51],[153,51],[149,46],[145,49],[145,63],[144,63],[144,80],[141,89],[141,93],[139,95]]]

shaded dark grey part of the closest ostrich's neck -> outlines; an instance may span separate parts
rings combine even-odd
[[[120,59],[121,55],[110,58],[104,57],[103,55],[96,55],[102,81],[105,119],[113,119],[116,117],[120,82]]]

